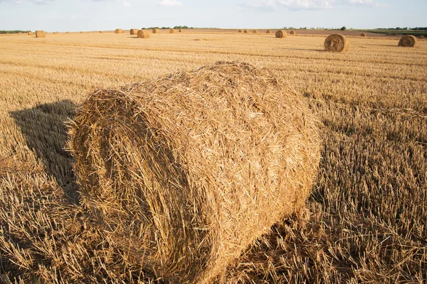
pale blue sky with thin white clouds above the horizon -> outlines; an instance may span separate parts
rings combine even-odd
[[[427,26],[427,0],[0,0],[0,30]]]

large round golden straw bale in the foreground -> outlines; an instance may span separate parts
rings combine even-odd
[[[168,283],[209,283],[305,207],[319,137],[280,77],[218,62],[93,92],[68,147],[82,200],[117,249]]]

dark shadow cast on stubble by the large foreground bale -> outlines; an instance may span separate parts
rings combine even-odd
[[[11,111],[10,116],[21,129],[26,144],[43,161],[70,201],[78,203],[78,186],[72,170],[70,153],[64,150],[67,141],[65,121],[73,118],[77,105],[68,99],[40,104],[32,109]]]

